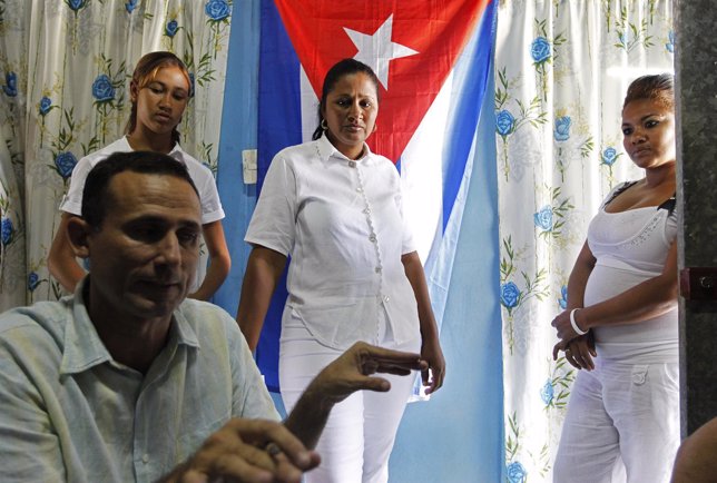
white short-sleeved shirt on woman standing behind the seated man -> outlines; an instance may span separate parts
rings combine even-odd
[[[60,210],[80,216],[82,214],[82,190],[85,189],[85,180],[89,171],[95,165],[107,159],[112,152],[131,152],[132,150],[127,141],[127,137],[122,136],[111,145],[105,146],[102,149],[81,158],[72,169],[70,188],[60,204]],[[185,152],[179,145],[175,145],[168,156],[187,167],[189,176],[197,187],[197,191],[199,191],[202,224],[206,225],[224,218],[219,193],[217,191],[217,186],[209,168]]]

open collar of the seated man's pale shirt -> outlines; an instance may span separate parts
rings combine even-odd
[[[60,374],[81,373],[106,362],[114,362],[87,312],[82,296],[87,284],[89,284],[89,275],[77,284],[75,295],[71,297],[72,315],[67,321],[65,329],[65,351]],[[199,348],[197,334],[181,313],[181,306],[173,314],[167,346],[163,353],[171,351],[174,354],[179,345]]]

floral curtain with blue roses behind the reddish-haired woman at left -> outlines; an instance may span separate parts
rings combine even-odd
[[[118,139],[137,60],[171,50],[194,82],[181,145],[216,174],[232,2],[0,0],[0,309],[62,295],[47,269],[79,158]]]

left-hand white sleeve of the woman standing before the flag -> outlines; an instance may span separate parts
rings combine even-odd
[[[296,233],[296,175],[281,154],[269,165],[244,240],[288,256]]]

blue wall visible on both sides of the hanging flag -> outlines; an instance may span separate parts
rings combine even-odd
[[[234,2],[217,183],[233,267],[215,302],[236,313],[248,256],[243,241],[256,191],[242,150],[256,148],[259,1]],[[268,0],[266,0],[268,1]],[[391,482],[499,482],[503,469],[501,319],[492,76],[479,127],[468,205],[441,333],[444,387],[409,405],[391,457]]]

